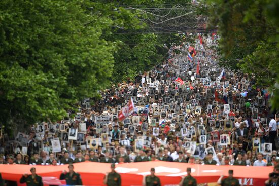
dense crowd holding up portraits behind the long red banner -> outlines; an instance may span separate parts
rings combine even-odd
[[[85,98],[61,122],[4,134],[0,163],[276,166],[278,119],[270,110],[271,94],[255,88],[253,77],[220,67],[217,44],[214,34],[197,35],[192,45],[173,46],[153,70],[100,92],[101,99]]]

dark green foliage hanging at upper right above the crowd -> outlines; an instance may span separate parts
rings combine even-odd
[[[274,93],[273,108],[279,108],[274,85],[278,72],[278,1],[206,1],[211,25],[218,26],[221,65],[241,70],[255,78],[257,87]]]

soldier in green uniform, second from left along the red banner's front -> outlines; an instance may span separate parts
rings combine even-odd
[[[64,170],[60,175],[60,180],[65,179],[67,185],[82,185],[80,174],[74,172],[74,165],[70,164],[68,168],[69,168],[69,172],[66,172]]]

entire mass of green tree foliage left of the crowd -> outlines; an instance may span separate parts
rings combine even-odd
[[[0,123],[12,129],[60,120],[79,100],[165,59],[181,35],[136,33],[147,25],[140,21],[143,15],[126,9],[129,3],[1,1]]]

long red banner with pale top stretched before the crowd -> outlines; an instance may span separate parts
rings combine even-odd
[[[3,179],[18,181],[24,173],[30,173],[31,167],[30,165],[0,165],[0,170]],[[43,177],[45,185],[59,182],[55,178],[59,178],[63,170],[68,170],[68,165],[34,167],[37,169],[37,174]],[[238,178],[242,185],[252,186],[264,185],[268,174],[273,171],[273,167],[216,166],[163,161],[118,164],[115,170],[121,174],[123,186],[142,185],[143,175],[149,175],[152,167],[155,168],[155,174],[160,177],[162,185],[177,185],[181,176],[187,174],[187,167],[192,168],[191,174],[198,183],[217,182],[220,175],[228,176],[228,170],[234,170],[234,177]],[[74,170],[80,173],[83,185],[103,185],[104,174],[110,172],[110,164],[76,163]]]

